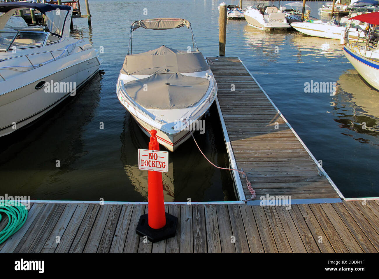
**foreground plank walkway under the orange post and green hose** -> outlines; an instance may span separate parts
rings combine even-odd
[[[167,205],[175,237],[135,232],[147,205],[34,203],[1,253],[378,252],[379,201],[282,206]],[[0,223],[0,229],[6,220]],[[59,239],[59,242],[57,241]]]

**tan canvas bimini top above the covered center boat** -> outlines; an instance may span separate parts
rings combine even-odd
[[[172,28],[179,28],[186,26],[191,27],[188,20],[182,18],[157,18],[157,19],[144,19],[137,20],[132,23],[132,30],[136,30],[138,27],[153,29],[153,30],[166,30]]]

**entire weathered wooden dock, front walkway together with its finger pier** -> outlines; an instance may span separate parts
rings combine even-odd
[[[244,202],[249,191],[235,174],[237,202],[166,203],[177,231],[156,243],[135,231],[147,202],[32,201],[0,252],[378,252],[379,200],[345,200],[241,60],[208,59],[230,163],[246,172],[255,200]],[[228,105],[230,94],[244,98]],[[262,206],[265,195],[291,200]]]

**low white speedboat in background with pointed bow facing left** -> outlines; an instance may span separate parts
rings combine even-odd
[[[354,25],[354,27],[349,29],[350,39],[357,39],[359,36],[365,36],[365,33],[361,31],[365,30],[366,27],[360,25],[360,22],[356,23],[357,24]],[[291,23],[291,26],[305,35],[336,40],[341,40],[341,32],[346,30],[345,24],[340,25],[334,17],[328,22],[323,22],[322,20],[307,20],[303,22],[293,22]]]

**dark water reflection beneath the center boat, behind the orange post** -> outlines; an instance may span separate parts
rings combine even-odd
[[[217,109],[214,105],[205,113],[205,133],[194,133],[204,154],[220,167],[229,167],[225,142]],[[138,127],[129,113],[124,115],[124,128],[120,135],[121,161],[125,173],[145,201],[148,199],[148,171],[138,169],[138,148],[147,149],[149,138]],[[160,145],[160,150],[164,147]],[[162,172],[165,202],[236,200],[230,172],[211,166],[197,149],[193,139],[186,140],[175,152],[169,152],[168,172]],[[203,175],[198,175],[202,173]],[[214,198],[216,197],[216,198]]]

